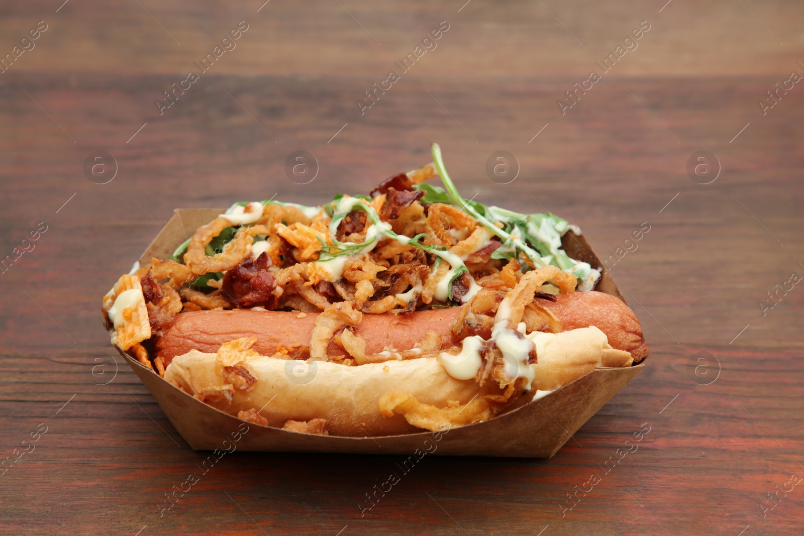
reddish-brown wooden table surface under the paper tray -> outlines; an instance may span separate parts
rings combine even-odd
[[[2,456],[38,437],[0,477],[3,534],[802,534],[804,288],[767,294],[804,276],[798,2],[60,2],[0,20],[2,54],[47,26],[0,74],[0,255],[47,229],[0,274]],[[466,197],[555,211],[614,256],[646,370],[552,460],[427,456],[361,516],[395,456],[235,452],[160,516],[204,455],[115,359],[100,297],[175,207],[322,203],[429,162],[431,141]],[[306,185],[285,175],[299,149]],[[101,150],[105,184],[111,161],[84,173]],[[486,175],[497,150],[514,182]],[[698,151],[709,174],[688,173]]]

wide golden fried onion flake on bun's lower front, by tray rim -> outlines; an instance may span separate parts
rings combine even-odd
[[[478,396],[466,404],[451,401],[446,407],[422,403],[408,393],[390,393],[380,397],[379,411],[384,417],[404,415],[405,420],[416,428],[432,432],[443,431],[494,417],[507,406],[511,395],[517,391],[521,393],[511,383],[503,395]]]

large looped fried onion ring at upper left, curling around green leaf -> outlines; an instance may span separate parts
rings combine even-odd
[[[254,235],[271,234],[269,228],[264,225],[240,227],[234,238],[224,245],[223,252],[207,256],[204,248],[226,227],[232,227],[232,223],[224,217],[218,217],[195,231],[195,235],[192,236],[190,244],[187,246],[187,253],[184,254],[184,263],[193,273],[200,276],[208,272],[231,270],[248,256],[250,246],[254,242]]]

